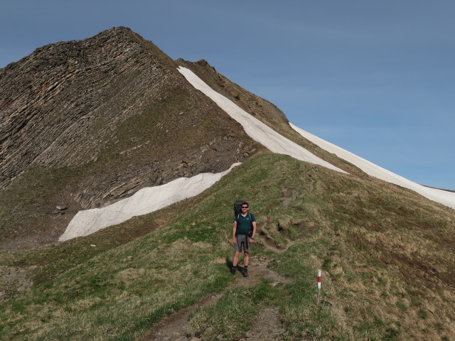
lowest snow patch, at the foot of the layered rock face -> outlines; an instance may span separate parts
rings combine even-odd
[[[234,163],[227,171],[221,173],[200,173],[192,178],[178,178],[161,186],[142,188],[131,197],[112,205],[81,210],[73,217],[65,229],[65,233],[58,240],[63,242],[75,237],[87,236],[105,227],[120,224],[137,215],[146,215],[188,197],[194,197],[238,165],[240,163]]]

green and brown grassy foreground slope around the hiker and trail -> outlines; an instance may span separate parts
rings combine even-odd
[[[455,337],[454,210],[381,181],[262,153],[166,210],[58,247],[2,254],[1,265],[40,266],[30,270],[35,286],[0,303],[0,339],[136,340],[164,316],[222,290],[233,281],[227,259],[237,198],[259,220],[255,254],[295,281],[279,298],[267,282],[228,291],[191,315],[193,332],[240,337],[239,319],[251,323],[259,308],[276,305],[289,340]],[[232,318],[226,307],[236,300],[244,315]]]

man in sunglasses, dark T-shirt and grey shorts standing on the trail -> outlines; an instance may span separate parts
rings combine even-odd
[[[232,227],[232,242],[234,244],[234,259],[232,259],[232,268],[230,273],[235,275],[240,252],[243,249],[243,264],[245,270],[243,276],[248,277],[248,261],[250,259],[250,244],[255,241],[256,218],[248,212],[248,202],[242,202],[242,212],[235,217],[234,227]]]

